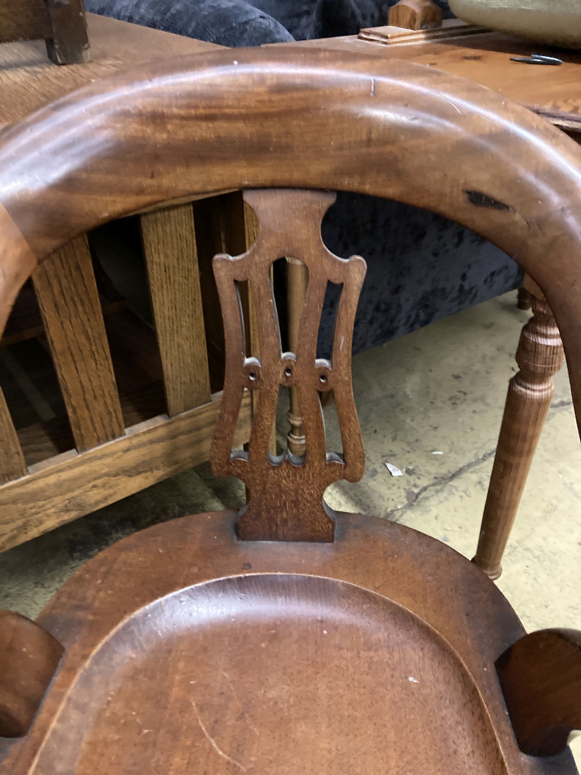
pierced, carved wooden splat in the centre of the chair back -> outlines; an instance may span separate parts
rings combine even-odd
[[[334,481],[358,481],[364,453],[351,384],[353,323],[366,263],[339,258],[321,239],[321,220],[335,202],[325,191],[272,189],[246,191],[246,202],[260,222],[256,242],[242,256],[218,255],[214,273],[225,332],[225,381],[222,410],[212,446],[216,476],[235,476],[249,488],[249,503],[239,514],[238,536],[245,540],[331,542],[335,522],[323,493]],[[309,283],[296,353],[282,353],[270,267],[292,256],[308,267]],[[236,283],[253,289],[260,337],[260,359],[246,358]],[[332,360],[317,359],[317,337],[327,281],[342,284],[335,322]],[[270,429],[280,385],[297,390],[307,453],[269,453]],[[244,388],[257,390],[247,453],[232,453]],[[318,391],[335,394],[343,454],[328,454]]]

